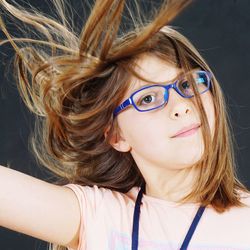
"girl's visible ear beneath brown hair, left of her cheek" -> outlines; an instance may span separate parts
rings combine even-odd
[[[110,131],[110,126],[105,130],[104,136],[107,138],[108,133]],[[121,133],[114,132],[111,138],[109,139],[109,144],[120,152],[128,152],[131,150],[131,146],[129,143],[124,139],[124,137],[121,135]]]

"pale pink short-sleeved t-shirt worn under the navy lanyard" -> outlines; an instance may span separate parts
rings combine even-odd
[[[130,250],[133,212],[138,187],[128,193],[97,186],[68,184],[81,207],[77,250]],[[206,207],[188,250],[250,250],[250,196],[242,193],[244,208],[222,214]],[[143,195],[139,220],[139,250],[178,250],[199,208]],[[70,249],[70,248],[69,248]]]

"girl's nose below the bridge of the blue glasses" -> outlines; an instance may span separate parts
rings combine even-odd
[[[192,111],[192,102],[190,98],[184,98],[173,88],[169,89],[168,110],[171,119],[177,119],[181,116],[189,115]]]

